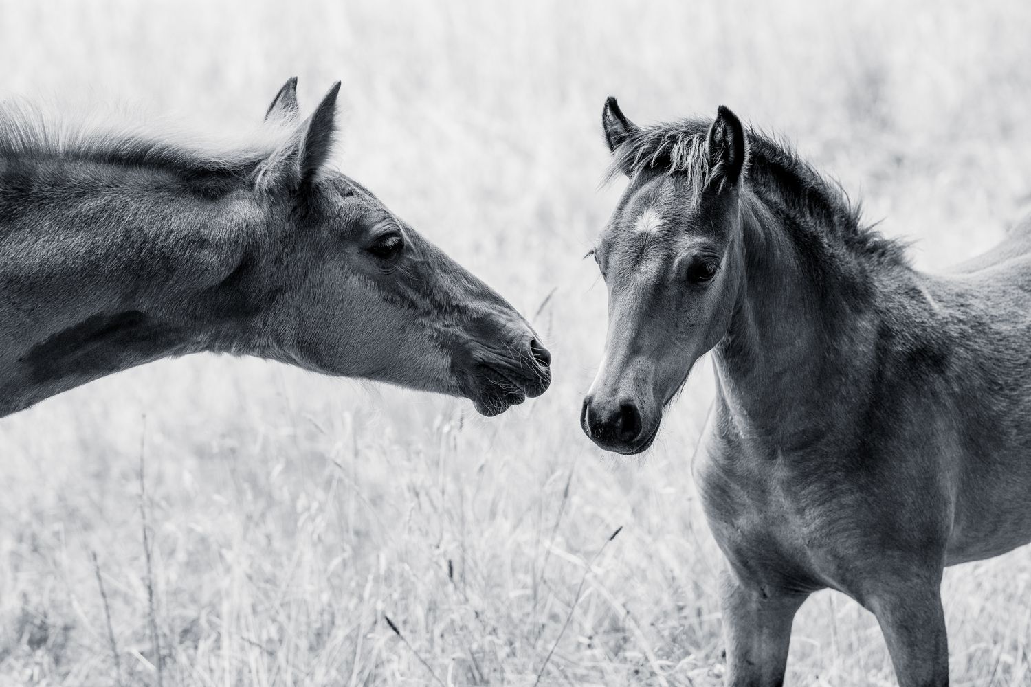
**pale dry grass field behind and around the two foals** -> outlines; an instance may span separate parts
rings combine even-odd
[[[1018,2],[0,2],[6,94],[225,130],[288,76],[308,107],[341,79],[341,169],[555,360],[491,420],[214,356],[0,420],[0,686],[719,684],[723,561],[690,475],[709,366],[643,459],[577,425],[605,327],[581,256],[620,192],[598,188],[602,102],[731,106],[934,269],[1027,211],[1028,36]],[[1031,684],[1031,551],[951,569],[944,595],[954,684]],[[814,595],[789,683],[894,684],[872,616]]]

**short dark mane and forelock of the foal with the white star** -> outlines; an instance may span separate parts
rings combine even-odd
[[[697,196],[710,173],[706,139],[711,125],[711,119],[685,118],[635,128],[613,151],[605,180],[646,169],[685,174],[694,180],[691,188]],[[745,129],[745,140],[747,187],[768,205],[802,219],[791,222],[791,229],[819,233],[796,237],[802,247],[812,249],[817,239],[816,245],[831,255],[843,249],[864,262],[907,265],[906,244],[886,238],[876,225],[864,225],[862,204],[853,204],[837,180],[826,178],[788,141],[752,127]]]

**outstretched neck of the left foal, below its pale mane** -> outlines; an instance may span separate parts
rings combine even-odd
[[[0,195],[0,415],[167,355],[251,352],[233,334],[257,234],[243,192],[205,199],[156,169],[16,164],[46,203]]]

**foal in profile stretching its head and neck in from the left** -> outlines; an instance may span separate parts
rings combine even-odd
[[[169,355],[258,355],[472,399],[547,388],[494,290],[329,166],[333,85],[243,149],[55,129],[0,106],[0,416]]]

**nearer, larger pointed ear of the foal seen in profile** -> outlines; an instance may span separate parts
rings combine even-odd
[[[311,182],[329,159],[336,133],[337,81],[282,146],[258,170],[256,186],[262,191],[296,191]]]

